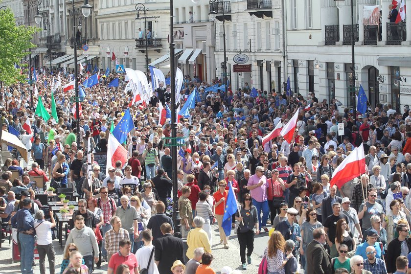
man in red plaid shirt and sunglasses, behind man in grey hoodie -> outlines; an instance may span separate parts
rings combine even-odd
[[[108,197],[109,189],[106,186],[102,186],[100,188],[101,197],[97,198],[97,207],[101,208],[103,211],[103,218],[104,224],[101,226],[101,235],[106,235],[106,232],[112,229],[112,225],[110,224],[111,218],[114,216],[115,210],[117,206],[115,205],[115,201],[113,198]],[[102,262],[107,261],[107,251],[104,247],[104,239],[101,246],[101,253],[102,253]]]

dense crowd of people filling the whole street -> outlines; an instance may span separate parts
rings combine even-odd
[[[222,227],[230,188],[239,205],[232,229],[240,248],[227,252],[239,252],[242,270],[260,264],[252,262],[251,254],[255,234],[261,233],[267,237],[262,273],[408,272],[408,105],[404,113],[390,104],[377,104],[366,114],[353,114],[338,100],[319,101],[314,92],[305,97],[274,89],[251,92],[248,83],[237,90],[229,86],[227,93],[206,91],[219,80],[206,83],[186,76],[179,103],[183,106],[195,88],[200,100],[189,117],[178,121],[178,149],[183,153],[177,156],[177,178],[172,178],[171,151],[164,138],[170,137],[170,121],[163,125],[159,121],[159,102],[170,106],[169,86],[160,82],[143,108],[130,104],[133,94],[123,91],[124,75],[106,77],[100,71],[99,84],[84,89],[77,119],[72,111],[74,91],[62,89],[73,73],[38,71],[33,108],[27,84],[3,87],[0,94],[2,130],[20,133],[33,162],[29,168],[17,153],[16,159],[1,166],[0,218],[19,231],[23,274],[32,273],[34,235],[41,273],[46,273],[46,256],[51,274],[58,264],[52,244],[56,222],[53,213],[42,210],[45,205],[35,200],[39,189],[31,176],[43,176],[45,184],[71,187],[80,196],[64,248],[63,274],[91,273],[102,263],[108,264],[109,274],[215,273],[213,249],[220,244],[229,250],[228,239],[234,234],[228,236]],[[79,77],[80,83],[86,74]],[[109,87],[115,77],[120,87]],[[46,120],[36,112],[41,97],[51,114],[51,92],[57,120]],[[122,144],[127,161],[109,166],[105,174],[93,153],[108,153],[110,132],[127,109],[134,123]],[[278,123],[286,125],[294,114],[298,118],[291,141],[277,136],[263,142]],[[30,132],[22,126],[27,120]],[[366,173],[340,187],[331,186],[334,170],[361,144]],[[19,171],[13,182],[11,170]],[[178,186],[180,224],[170,218],[173,180]],[[220,242],[212,237],[214,224]],[[185,252],[182,238],[188,246]],[[224,271],[237,273],[229,267]]]

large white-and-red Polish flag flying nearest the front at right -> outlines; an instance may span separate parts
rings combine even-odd
[[[331,177],[331,186],[334,184],[342,187],[344,183],[365,173],[364,147],[361,144],[354,148],[350,155],[334,170]]]

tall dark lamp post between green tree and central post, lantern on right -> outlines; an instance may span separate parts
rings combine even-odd
[[[73,8],[73,38],[74,38],[74,90],[75,90],[75,97],[76,97],[76,129],[77,129],[77,145],[80,146],[80,111],[79,111],[79,97],[78,97],[78,67],[77,67],[77,39],[76,37],[76,16],[74,13],[74,0],[72,0],[72,8]],[[81,12],[83,13],[84,17],[89,17],[91,13],[92,6],[89,4],[89,0],[84,0],[84,5],[81,6]]]

